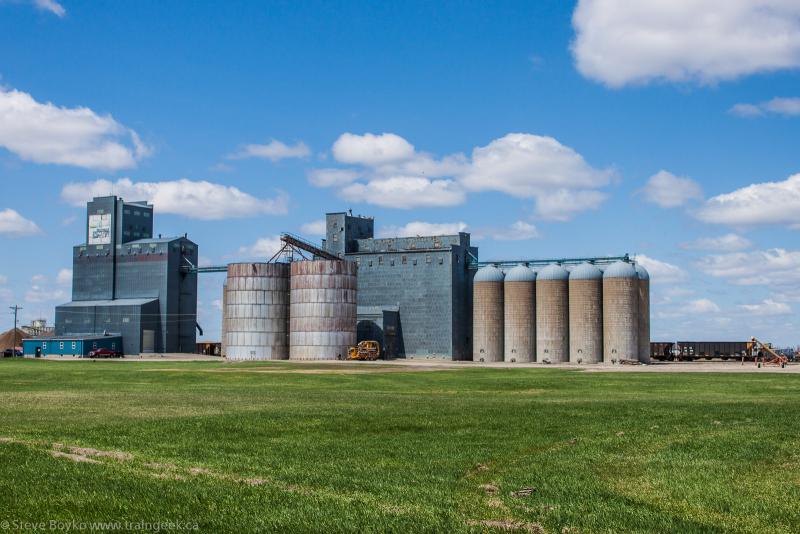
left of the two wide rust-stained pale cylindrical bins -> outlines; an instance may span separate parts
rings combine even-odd
[[[224,297],[225,354],[231,360],[289,357],[289,266],[228,265]]]

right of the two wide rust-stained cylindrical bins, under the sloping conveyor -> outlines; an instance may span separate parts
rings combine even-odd
[[[349,261],[292,263],[289,358],[336,360],[356,344],[356,273]]]

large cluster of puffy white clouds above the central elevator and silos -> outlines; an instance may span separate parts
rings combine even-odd
[[[346,200],[386,207],[453,206],[467,193],[499,191],[534,201],[540,218],[568,220],[597,208],[611,170],[591,167],[573,149],[551,137],[512,133],[476,147],[467,157],[437,158],[417,151],[396,134],[342,134],[333,146],[348,169],[318,169],[309,181],[340,187]]]

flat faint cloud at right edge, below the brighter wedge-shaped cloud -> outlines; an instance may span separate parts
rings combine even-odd
[[[800,283],[800,251],[782,248],[712,254],[701,258],[697,267],[734,285],[793,287]]]

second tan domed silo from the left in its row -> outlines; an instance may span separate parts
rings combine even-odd
[[[507,362],[536,359],[536,273],[517,265],[503,283],[504,351]]]

